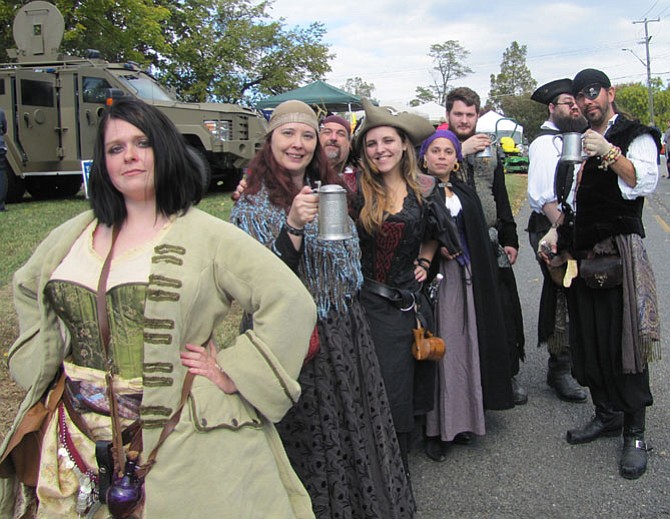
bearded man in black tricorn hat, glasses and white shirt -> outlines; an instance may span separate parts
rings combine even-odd
[[[539,135],[528,148],[528,202],[533,212],[528,220],[528,237],[531,249],[537,250],[540,238],[553,224],[563,218],[561,206],[554,189],[557,167],[572,169],[575,166],[558,161],[558,149],[554,137],[564,132],[581,133],[587,126],[586,119],[572,96],[572,80],[557,79],[539,87],[530,97],[533,101],[547,105],[549,118],[542,124]],[[558,178],[574,178],[573,171],[561,171]],[[564,182],[564,181],[563,181]],[[569,185],[573,186],[569,181]],[[562,187],[562,186],[561,186]],[[568,188],[572,191],[572,188]],[[570,203],[562,200],[563,206]],[[537,333],[538,346],[546,344],[549,351],[547,384],[556,395],[566,402],[586,402],[587,394],[572,378],[572,363],[568,348],[567,303],[562,286],[552,281],[547,265],[539,259],[544,282],[540,298]]]

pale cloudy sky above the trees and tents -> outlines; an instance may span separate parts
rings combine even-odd
[[[336,54],[326,81],[341,87],[361,77],[384,104],[407,103],[417,86],[432,84],[428,50],[446,40],[470,52],[465,63],[474,71],[454,86],[474,88],[482,101],[514,40],[527,45],[538,84],[586,67],[602,69],[615,83],[645,83],[645,24],[633,23],[645,18],[660,18],[648,23],[652,77],[670,80],[670,0],[275,0],[270,12],[290,26],[322,22],[324,42]]]

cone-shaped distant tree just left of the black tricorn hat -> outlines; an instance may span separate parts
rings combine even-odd
[[[500,73],[491,74],[491,91],[487,104],[502,111],[503,99],[509,96],[531,94],[537,87],[526,65],[526,46],[513,41],[503,52]]]

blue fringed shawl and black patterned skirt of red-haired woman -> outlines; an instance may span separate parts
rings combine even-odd
[[[265,191],[241,198],[231,212],[231,221],[274,250],[317,303],[320,349],[300,373],[298,403],[277,424],[288,457],[317,517],[410,518],[411,487],[357,297],[358,237],[319,241],[315,221],[305,227],[303,249],[296,251],[285,220]]]

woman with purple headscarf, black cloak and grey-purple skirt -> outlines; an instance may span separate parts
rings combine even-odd
[[[426,454],[444,461],[451,443],[470,443],[485,433],[487,402],[498,408],[499,389],[509,386],[509,358],[499,335],[504,322],[497,268],[481,202],[472,188],[451,179],[463,160],[461,144],[453,132],[438,130],[424,141],[419,156],[438,179],[463,250],[456,257],[443,251],[431,272],[444,276],[435,318],[447,350],[439,361],[435,407],[426,417]]]

